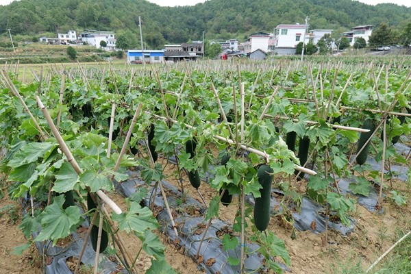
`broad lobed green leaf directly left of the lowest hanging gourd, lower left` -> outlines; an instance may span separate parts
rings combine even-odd
[[[69,236],[75,225],[81,221],[82,214],[79,208],[69,206],[63,210],[63,203],[64,195],[57,196],[40,214],[41,232],[35,238],[36,241],[53,240],[55,244],[58,239]]]

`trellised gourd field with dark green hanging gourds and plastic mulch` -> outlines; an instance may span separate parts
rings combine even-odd
[[[3,71],[2,166],[28,204],[23,233],[53,257],[80,229],[95,272],[186,273],[170,247],[206,273],[319,273],[362,236],[366,267],[391,241],[364,218],[410,230],[384,219],[410,209],[411,80],[398,66],[55,67],[32,84]],[[80,253],[62,258],[92,264]]]

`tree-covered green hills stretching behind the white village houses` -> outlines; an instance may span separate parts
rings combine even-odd
[[[0,29],[35,35],[69,29],[101,29],[138,34],[142,18],[145,42],[238,38],[273,32],[280,23],[303,23],[310,29],[344,31],[356,25],[386,22],[400,29],[411,21],[411,8],[393,4],[366,5],[351,0],[208,0],[195,6],[160,7],[145,0],[21,0],[0,6]]]

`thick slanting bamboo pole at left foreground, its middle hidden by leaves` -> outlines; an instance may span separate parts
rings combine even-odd
[[[38,106],[40,107],[43,115],[45,116],[47,120],[47,123],[49,123],[51,132],[53,132],[53,135],[55,139],[57,140],[58,144],[60,145],[60,148],[64,152],[64,155],[66,155],[67,162],[69,162],[71,166],[73,166],[73,169],[78,175],[82,174],[83,173],[82,169],[80,168],[75,158],[73,158],[73,154],[71,153],[69,147],[67,147],[62,136],[60,135],[60,132],[58,132],[57,128],[55,127],[53,120],[51,119],[51,116],[49,114],[49,111],[47,110],[47,108],[45,108],[45,105],[43,105],[42,101],[40,100],[40,97],[36,96],[36,100],[37,100]],[[107,195],[105,195],[103,191],[97,190],[96,194],[99,195],[100,199],[103,200],[105,203],[107,203],[107,205],[110,206],[110,208],[112,208],[112,210],[114,210],[116,214],[121,214],[122,211],[119,208],[119,206],[117,206],[116,203],[112,201],[112,199],[110,199]]]

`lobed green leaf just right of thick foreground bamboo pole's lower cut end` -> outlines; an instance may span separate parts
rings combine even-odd
[[[126,201],[129,203],[129,199]],[[143,235],[146,229],[159,227],[157,220],[153,217],[153,212],[149,208],[142,208],[140,203],[134,201],[130,203],[128,212],[114,213],[112,219],[119,223],[119,229],[127,233],[135,232],[136,235]]]

